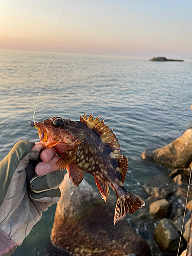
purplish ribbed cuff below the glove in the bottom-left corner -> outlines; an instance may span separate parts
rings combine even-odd
[[[16,244],[0,230],[0,256],[10,256],[16,250]]]

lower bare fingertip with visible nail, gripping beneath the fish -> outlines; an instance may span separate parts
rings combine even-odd
[[[35,172],[38,176],[44,176],[46,174],[55,172],[58,170],[58,166],[56,162],[59,160],[59,156],[56,155],[54,158],[51,159],[49,163],[40,162],[35,167]]]

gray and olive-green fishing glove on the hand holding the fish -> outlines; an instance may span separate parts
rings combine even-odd
[[[38,151],[31,151],[34,145],[19,141],[0,162],[0,229],[16,246],[23,243],[40,220],[42,212],[59,201],[58,186],[64,178],[60,170],[33,177],[39,154]],[[11,255],[13,251],[6,255]]]

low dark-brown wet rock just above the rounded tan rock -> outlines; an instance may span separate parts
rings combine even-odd
[[[147,198],[147,202],[149,204],[159,200],[164,199],[173,194],[173,191],[167,188],[160,188],[160,187],[148,187],[143,186],[144,190],[150,197]]]

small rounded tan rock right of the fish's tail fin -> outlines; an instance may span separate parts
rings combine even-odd
[[[166,199],[161,199],[150,204],[150,214],[156,218],[166,218],[172,211],[172,203]]]

